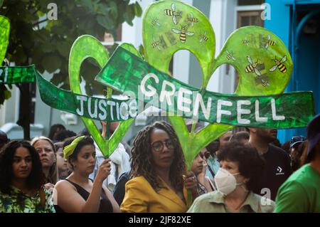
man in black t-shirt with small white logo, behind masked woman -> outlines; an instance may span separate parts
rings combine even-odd
[[[270,144],[277,139],[277,130],[250,128],[249,143],[265,158],[265,173],[261,176],[261,188],[256,194],[274,201],[279,187],[292,174],[287,152]]]

